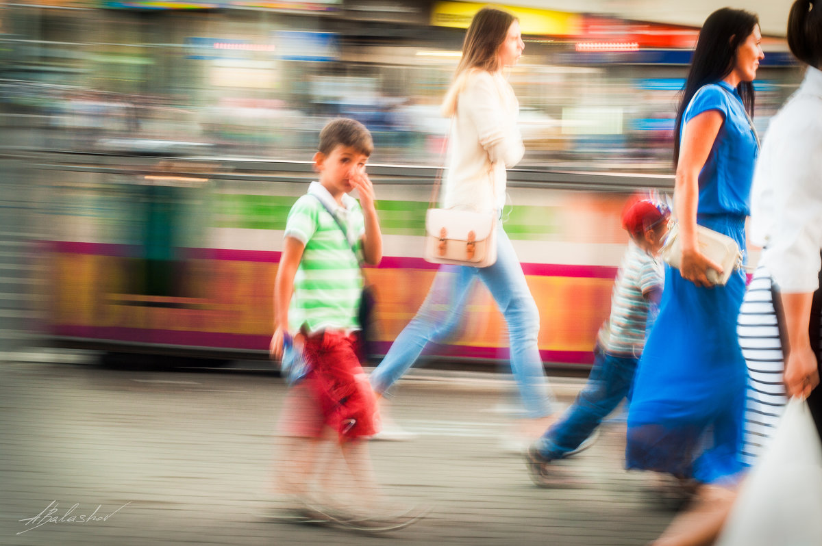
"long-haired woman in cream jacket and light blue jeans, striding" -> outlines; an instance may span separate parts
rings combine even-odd
[[[443,113],[453,118],[442,205],[487,212],[501,218],[506,201],[506,167],[524,154],[517,129],[519,103],[502,74],[524,49],[520,23],[507,11],[484,7],[473,17],[463,44],[454,83]],[[413,365],[428,342],[441,341],[459,323],[464,304],[479,278],[505,316],[510,336],[510,364],[520,388],[529,429],[543,431],[552,414],[537,335],[539,312],[525,283],[514,248],[498,223],[496,263],[487,268],[443,266],[426,301],[396,338],[371,376],[381,394]]]

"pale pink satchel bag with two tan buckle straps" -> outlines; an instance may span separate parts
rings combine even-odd
[[[496,218],[470,210],[428,209],[423,256],[433,264],[487,268],[496,262]]]

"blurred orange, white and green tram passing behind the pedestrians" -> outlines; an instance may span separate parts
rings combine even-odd
[[[385,257],[376,287],[376,353],[418,310],[436,266],[423,260],[435,167],[368,167]],[[45,328],[53,342],[215,358],[267,356],[286,214],[310,163],[40,154],[49,235]],[[671,177],[515,170],[505,227],[541,315],[543,361],[586,367],[607,317],[627,235],[619,215],[638,187]],[[506,359],[506,331],[477,284],[459,333],[432,358]]]

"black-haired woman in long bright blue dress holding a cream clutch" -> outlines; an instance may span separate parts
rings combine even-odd
[[[677,112],[674,206],[681,268],[665,268],[656,324],[635,378],[626,466],[700,484],[730,485],[739,451],[746,364],[737,339],[745,275],[709,282],[722,268],[700,253],[699,224],[745,249],[745,218],[758,139],[752,81],[760,28],[747,11],[714,11],[700,31]]]

